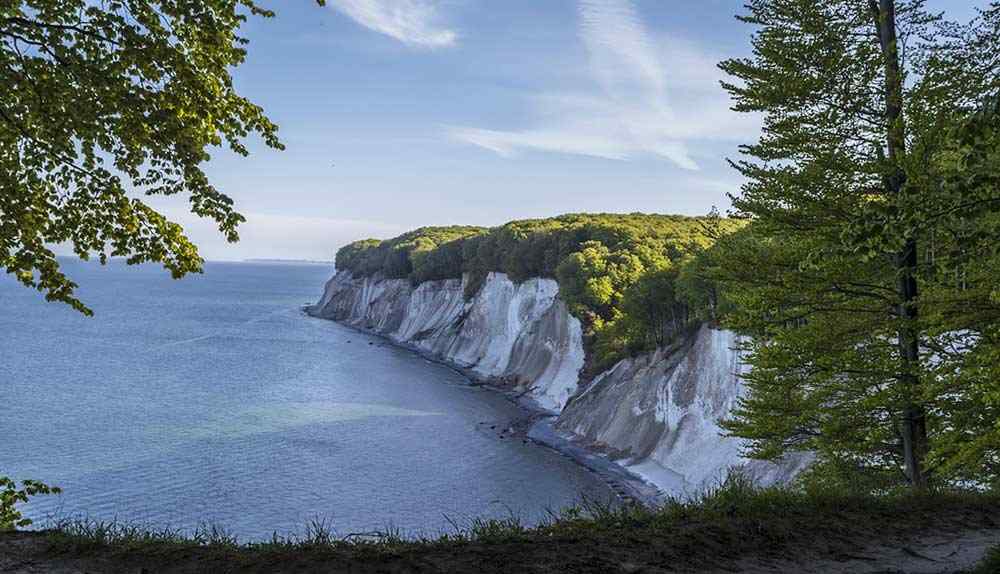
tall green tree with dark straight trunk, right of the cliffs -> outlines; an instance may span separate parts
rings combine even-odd
[[[727,428],[755,456],[814,450],[923,487],[945,427],[942,358],[929,352],[938,305],[925,289],[954,292],[941,271],[959,261],[926,253],[948,222],[980,226],[997,207],[982,184],[992,200],[939,213],[969,199],[948,184],[949,170],[965,177],[951,169],[952,128],[998,86],[1000,48],[968,42],[995,37],[998,5],[966,28],[923,0],[747,7],[753,57],[721,64],[735,109],[764,116],[733,163],[747,179],[734,209],[752,229],[719,265],[753,367]]]

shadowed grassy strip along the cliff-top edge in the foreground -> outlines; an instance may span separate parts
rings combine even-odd
[[[513,518],[479,520],[435,539],[407,539],[398,532],[337,537],[313,524],[301,537],[239,544],[211,528],[184,536],[66,523],[39,533],[0,534],[0,556],[5,537],[19,536],[21,545],[7,549],[25,549],[21,563],[55,572],[60,564],[149,573],[744,571],[734,568],[747,560],[839,560],[873,543],[904,545],[928,535],[991,529],[1000,532],[996,495],[876,497],[760,489],[734,480],[698,500],[657,510],[585,504],[537,527]],[[997,571],[989,568],[1000,564],[1000,551],[989,560],[982,571]],[[29,571],[4,570],[0,558],[0,572]]]

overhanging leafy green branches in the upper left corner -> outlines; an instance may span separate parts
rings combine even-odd
[[[323,0],[318,0],[323,4]],[[142,195],[186,195],[229,241],[244,218],[201,165],[259,134],[263,110],[239,95],[254,0],[15,0],[0,5],[0,267],[50,301],[90,314],[51,246],[82,259],[159,262],[181,277],[202,259]]]

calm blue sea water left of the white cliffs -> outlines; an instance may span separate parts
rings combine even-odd
[[[27,514],[119,519],[242,539],[473,516],[534,519],[581,493],[571,461],[499,438],[519,412],[455,372],[304,316],[324,266],[64,261],[96,317],[0,278],[0,475],[64,488]],[[373,343],[373,344],[369,344]]]

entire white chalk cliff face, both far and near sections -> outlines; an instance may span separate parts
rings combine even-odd
[[[748,461],[718,421],[743,394],[732,332],[702,326],[682,343],[620,361],[587,384],[583,335],[552,279],[513,283],[353,277],[338,272],[309,312],[389,337],[475,375],[527,391],[556,428],[608,452],[667,494],[694,494],[741,467],[763,483],[793,477],[805,457]]]

